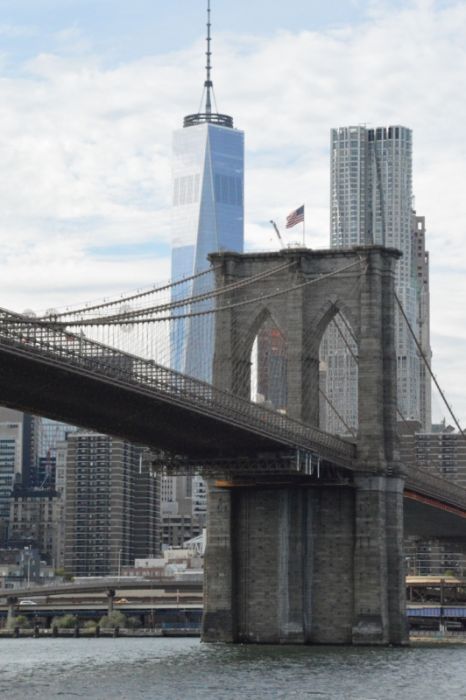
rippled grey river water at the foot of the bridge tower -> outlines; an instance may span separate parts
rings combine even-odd
[[[370,649],[198,639],[3,639],[2,700],[461,700],[466,646]]]

